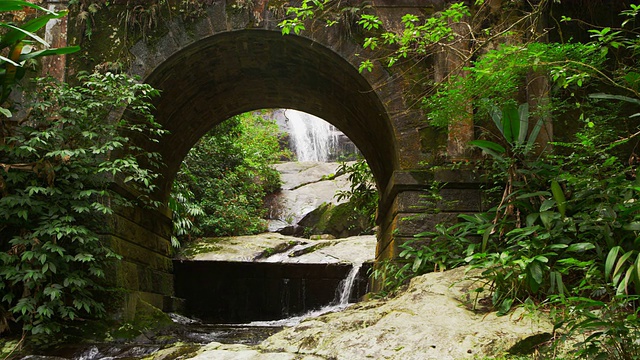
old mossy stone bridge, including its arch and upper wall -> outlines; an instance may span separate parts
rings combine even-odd
[[[360,73],[361,55],[367,54],[359,45],[363,36],[353,19],[345,15],[332,27],[310,23],[300,36],[283,36],[277,27],[284,18],[283,3],[143,2],[132,8],[116,1],[88,19],[83,19],[82,9],[76,9],[51,31],[69,44],[80,44],[83,52],[68,57],[66,63],[47,64],[47,69],[71,79],[82,69],[121,65],[162,91],[155,104],[156,116],[170,135],[160,144],[140,145],[164,157],[167,166],[157,197],[165,204],[183,158],[212,127],[251,110],[291,108],[323,118],[343,131],[373,170],[380,192],[377,260],[394,258],[399,243],[441,220],[478,211],[480,192],[473,178],[464,172],[429,170],[431,165],[464,155],[459,144],[469,139],[471,131],[451,131],[447,138],[429,129],[423,114],[412,106],[416,71],[442,78],[456,66],[456,59],[443,53],[417,70],[409,64],[393,71],[376,66],[372,72]],[[386,27],[393,28],[402,15],[428,14],[445,1],[370,3],[363,11],[376,13]],[[187,19],[180,14],[189,10],[182,8],[189,4],[198,6],[198,15]],[[457,200],[437,214],[429,214],[433,205],[421,201],[432,180],[446,183],[441,190],[445,200]],[[109,225],[107,237],[124,256],[114,275],[117,285],[171,310],[169,212],[125,209]]]

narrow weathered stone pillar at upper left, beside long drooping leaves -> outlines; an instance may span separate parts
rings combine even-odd
[[[68,3],[61,0],[49,0],[43,7],[56,12],[67,10]],[[44,40],[51,48],[67,46],[67,17],[49,20],[45,26]],[[52,76],[60,81],[66,79],[66,55],[45,56],[41,58],[41,76]]]

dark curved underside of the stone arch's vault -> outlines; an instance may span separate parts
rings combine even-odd
[[[167,164],[166,200],[191,147],[213,126],[246,111],[293,108],[342,130],[369,162],[380,189],[398,164],[395,130],[378,94],[348,61],[300,36],[237,30],[177,51],[145,82],[161,90],[156,118],[170,131],[156,150]]]

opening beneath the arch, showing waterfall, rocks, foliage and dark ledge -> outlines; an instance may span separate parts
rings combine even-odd
[[[289,116],[286,116],[287,112]],[[274,144],[273,138],[298,131],[290,124],[296,121],[292,116],[294,114],[307,115],[278,109],[243,114],[226,120],[205,135],[183,163],[178,180],[187,180],[187,186],[191,191],[200,193],[194,199],[201,202],[203,209],[207,205],[224,204],[221,212],[218,211],[218,206],[207,206],[207,211],[202,215],[213,219],[213,222],[218,224],[217,228],[201,227],[200,230],[207,232],[200,232],[199,239],[186,243],[186,247],[181,249],[178,256],[180,260],[174,261],[176,295],[185,300],[185,314],[215,324],[269,321],[268,326],[272,327],[274,324],[299,321],[300,316],[310,316],[310,311],[317,315],[325,311],[340,310],[366,293],[368,277],[365,274],[374,258],[376,240],[372,235],[345,239],[359,235],[360,233],[351,234],[351,231],[359,229],[358,227],[347,225],[340,230],[341,234],[334,234],[331,233],[331,230],[335,230],[334,225],[333,228],[325,229],[333,236],[319,236],[315,239],[312,237],[312,240],[309,240],[309,234],[317,230],[314,229],[314,220],[307,220],[310,222],[305,223],[310,225],[309,233],[305,234],[285,234],[285,231],[279,231],[289,231],[285,229],[287,227],[301,229],[298,221],[291,223],[295,226],[280,229],[269,227],[269,230],[280,234],[264,233],[266,228],[259,230],[250,226],[257,224],[244,222],[240,227],[223,229],[225,224],[233,223],[234,220],[246,219],[238,219],[234,212],[234,209],[237,210],[235,205],[242,202],[241,198],[257,200],[258,197],[267,195],[260,194],[260,190],[255,192],[256,187],[265,184],[260,171],[263,167],[252,168],[261,160],[272,164],[273,170],[287,174],[286,179],[282,179],[282,187],[276,189],[277,194],[272,194],[276,195],[273,198],[276,202],[286,199],[286,205],[283,204],[286,212],[270,214],[270,224],[272,220],[277,220],[275,223],[279,222],[282,219],[281,215],[287,215],[294,209],[304,211],[302,215],[306,215],[337,206],[334,195],[348,181],[347,175],[336,175],[338,163],[334,160],[336,155],[347,154],[348,149],[334,144],[329,149],[330,157],[315,160],[300,159],[293,154],[286,159],[270,156],[282,154],[281,151],[274,150],[274,145],[277,148],[290,148],[291,143],[287,141],[291,140],[290,138],[280,138],[285,140],[286,144]],[[317,122],[326,125],[322,119],[310,116],[303,116],[300,120],[305,121],[310,127]],[[274,130],[277,132],[275,135]],[[336,132],[335,128],[329,131]],[[255,140],[254,144],[250,144],[252,137]],[[230,138],[239,143],[231,144]],[[267,143],[270,145],[265,146]],[[254,146],[262,149],[263,154],[255,154],[254,150],[257,148]],[[243,162],[236,159],[237,165],[244,164],[236,168],[232,163],[238,154],[251,160]],[[352,153],[348,155],[356,156]],[[231,161],[226,162],[225,158]],[[207,169],[209,167],[215,169]],[[224,168],[224,174],[218,171],[220,168]],[[237,170],[240,172],[236,172]],[[245,178],[244,175],[249,173],[249,178]],[[185,177],[186,174],[189,176]],[[211,181],[209,177],[215,180]],[[227,182],[235,179],[239,179],[240,182],[236,182],[235,185]],[[219,188],[219,181],[224,182],[223,188]],[[245,182],[252,185],[245,187]],[[225,189],[230,187],[234,190],[226,192]],[[253,193],[242,196],[242,191]],[[222,197],[217,197],[219,194]],[[290,200],[300,204],[289,207],[293,205],[290,204]],[[342,221],[352,221],[352,217],[345,216],[345,212],[340,214],[338,217]],[[218,221],[219,219],[225,220]],[[261,222],[264,218],[255,220]],[[207,221],[202,222],[204,223]],[[372,226],[368,226],[366,229],[371,228]],[[240,230],[241,233],[233,233],[233,229]],[[219,230],[232,232],[216,234]],[[339,240],[331,240],[334,236]],[[315,252],[316,249],[322,251]],[[198,276],[194,276],[196,273]],[[225,276],[216,276],[221,273]],[[203,277],[208,279],[206,289],[203,289]]]

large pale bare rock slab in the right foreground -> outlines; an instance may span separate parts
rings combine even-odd
[[[373,300],[286,329],[260,348],[335,359],[464,359],[510,349],[552,325],[516,312],[498,317],[460,306],[467,302],[465,270],[417,277],[396,298]]]

